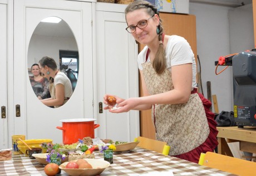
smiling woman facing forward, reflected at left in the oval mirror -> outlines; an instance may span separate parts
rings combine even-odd
[[[33,64],[31,66],[31,73],[33,76],[29,76],[29,80],[37,98],[42,100],[51,97],[49,92],[49,81],[46,77],[41,75],[38,64]]]

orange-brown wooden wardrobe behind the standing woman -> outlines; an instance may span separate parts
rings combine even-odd
[[[160,13],[166,35],[180,35],[190,44],[197,59],[196,52],[196,19],[195,15]],[[145,45],[139,44],[139,52]],[[140,80],[140,79],[139,79]],[[143,96],[140,80],[140,96]],[[155,127],[151,121],[151,110],[140,112],[140,136],[155,139]]]

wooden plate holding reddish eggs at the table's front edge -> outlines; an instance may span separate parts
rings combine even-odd
[[[100,175],[110,163],[101,159],[85,159],[92,165],[92,169],[67,169],[65,168],[68,162],[62,163],[59,168],[64,170],[68,175]],[[76,162],[74,160],[72,162]]]

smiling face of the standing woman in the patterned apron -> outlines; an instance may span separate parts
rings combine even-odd
[[[131,33],[132,36],[141,44],[149,44],[157,38],[156,28],[159,25],[159,17],[154,15],[152,18],[145,9],[138,9],[126,14],[126,22],[128,27],[136,26],[141,20],[147,20],[145,28],[136,27],[136,31]]]

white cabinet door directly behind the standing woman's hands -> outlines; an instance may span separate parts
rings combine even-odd
[[[139,94],[137,45],[125,30],[126,5],[107,5],[96,4],[97,103],[103,101],[105,94],[124,99]],[[130,142],[140,134],[139,111],[118,114],[98,111],[97,122],[98,137],[103,139]]]

